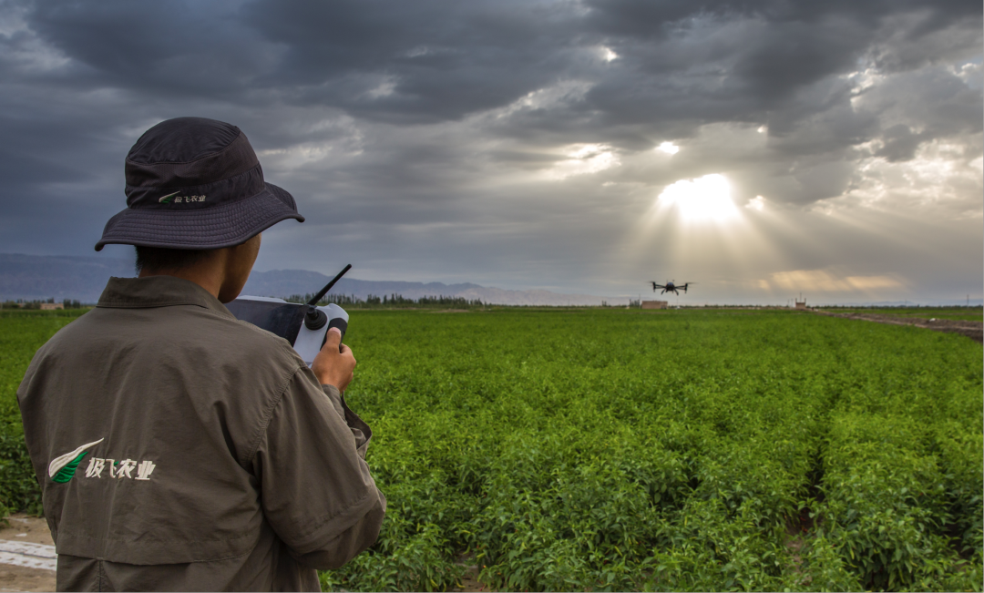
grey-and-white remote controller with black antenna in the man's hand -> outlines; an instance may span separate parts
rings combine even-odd
[[[237,320],[262,327],[286,339],[307,366],[328,341],[328,330],[338,327],[341,337],[348,329],[348,314],[335,303],[318,307],[317,303],[328,294],[351,265],[346,266],[318,294],[306,304],[288,303],[271,297],[240,296],[225,305]],[[341,344],[338,344],[341,350]]]

